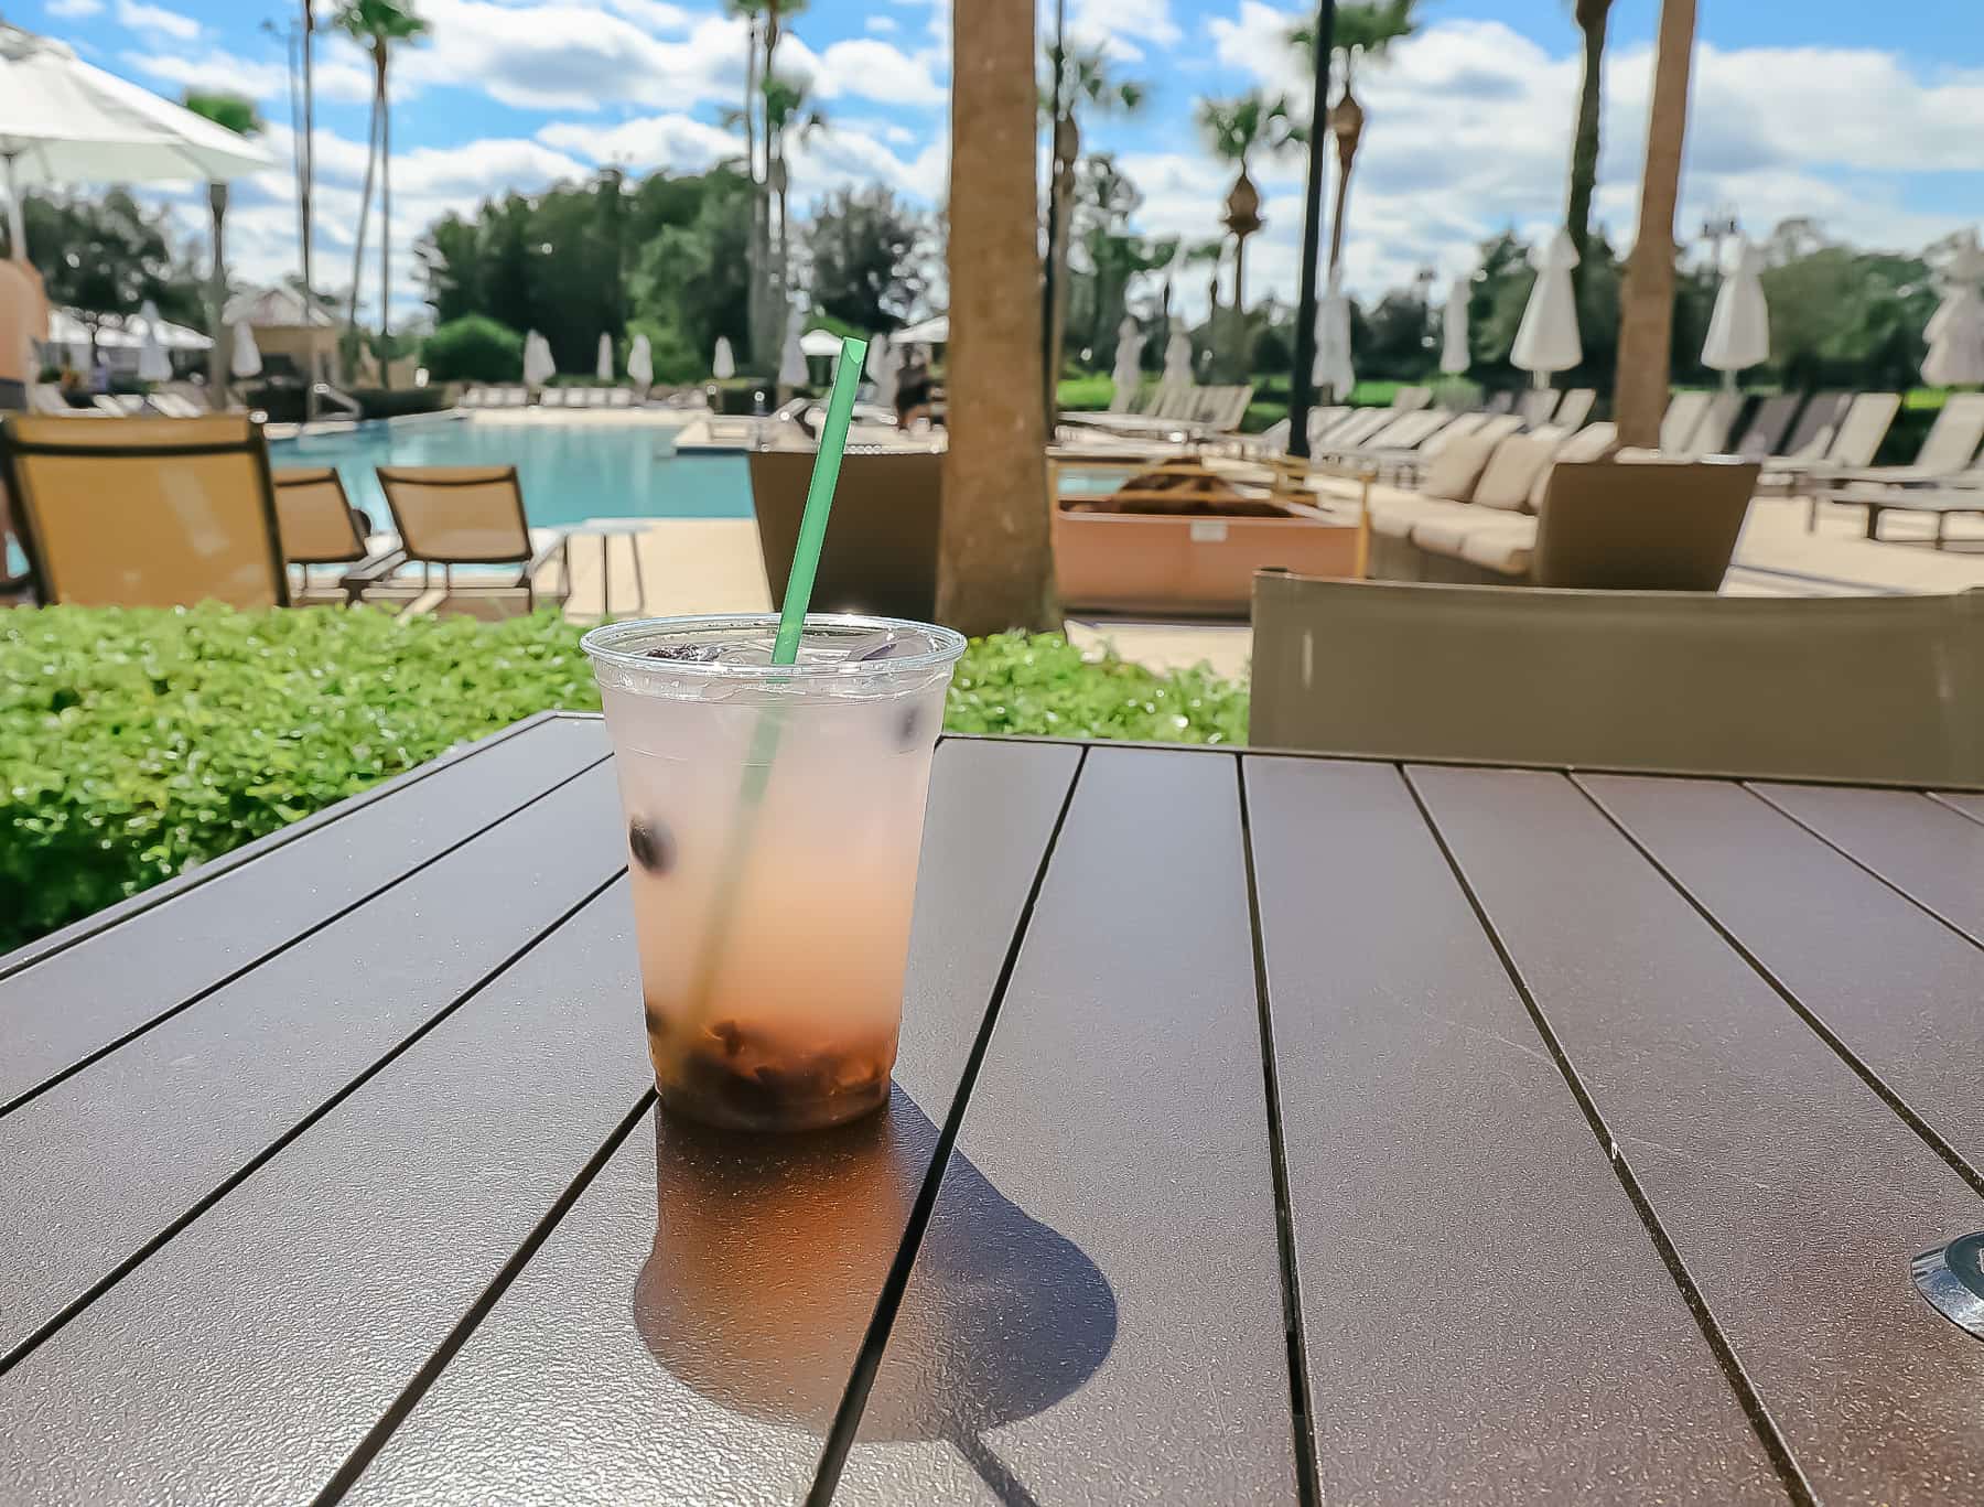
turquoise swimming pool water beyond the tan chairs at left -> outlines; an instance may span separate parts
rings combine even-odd
[[[651,423],[363,423],[331,435],[278,439],[274,467],[337,467],[345,494],[391,528],[373,467],[504,467],[524,484],[540,526],[585,518],[750,518],[740,455],[675,455],[675,435]]]

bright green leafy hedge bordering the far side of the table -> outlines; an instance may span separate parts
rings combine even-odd
[[[0,951],[548,707],[597,709],[579,629],[369,608],[0,614]],[[966,733],[1238,743],[1246,691],[972,643]]]

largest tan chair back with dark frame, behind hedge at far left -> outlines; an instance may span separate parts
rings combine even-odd
[[[14,415],[0,482],[44,604],[290,604],[268,447],[246,415]]]

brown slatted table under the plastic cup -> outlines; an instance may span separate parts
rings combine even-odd
[[[946,739],[796,1140],[623,872],[540,717],[0,959],[0,1501],[1984,1501],[1976,792]]]

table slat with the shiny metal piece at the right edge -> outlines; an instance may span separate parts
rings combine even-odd
[[[1907,1263],[1984,1199],[1567,778],[1411,778],[1813,1493],[1976,1503],[1984,1346]]]

